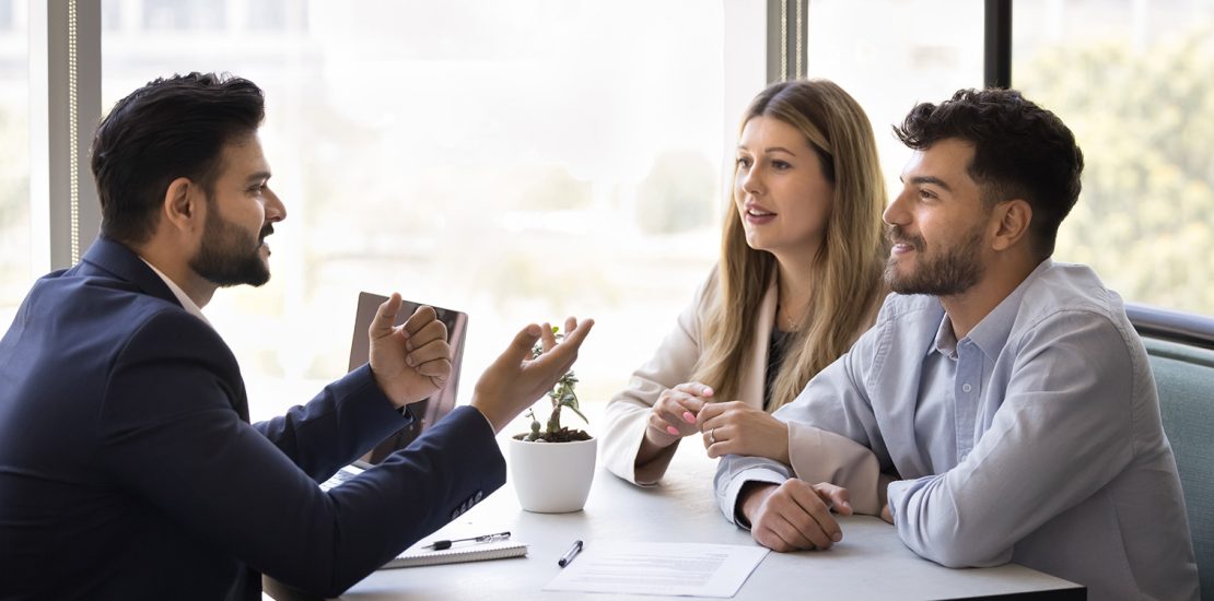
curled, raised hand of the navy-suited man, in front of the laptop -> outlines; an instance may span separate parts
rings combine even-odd
[[[447,327],[433,307],[420,306],[402,325],[396,323],[401,295],[384,301],[371,319],[370,364],[375,384],[396,407],[416,403],[447,385],[452,375],[452,347]]]

